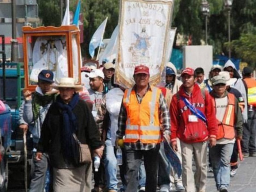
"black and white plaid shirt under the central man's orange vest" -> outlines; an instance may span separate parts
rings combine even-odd
[[[134,86],[132,89],[135,90],[136,92],[136,86]],[[148,90],[152,91],[150,86],[148,86],[146,93],[148,92]],[[140,97],[140,95],[136,92],[137,100],[139,103],[141,103],[145,94],[142,97]],[[160,105],[159,117],[160,117],[161,126],[163,127],[164,134],[170,135],[170,126],[171,126],[170,114],[162,93],[160,94],[160,97],[159,97],[159,105]],[[126,108],[124,107],[124,104],[122,103],[120,112],[119,112],[119,118],[118,118],[118,131],[116,132],[117,133],[116,137],[119,139],[123,138],[123,136],[125,135],[126,120],[127,120],[127,112],[126,112]],[[125,143],[125,145],[127,145],[128,147],[134,150],[149,150],[149,149],[155,148],[157,144],[156,143],[145,144],[145,143],[142,143],[140,140],[138,140],[135,143]]]

